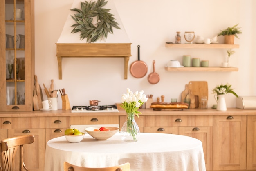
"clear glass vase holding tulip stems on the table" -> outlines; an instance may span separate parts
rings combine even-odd
[[[139,140],[139,126],[134,119],[135,113],[127,113],[127,119],[121,129],[121,139],[126,142],[136,142]]]

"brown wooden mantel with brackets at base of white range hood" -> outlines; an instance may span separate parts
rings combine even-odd
[[[62,58],[104,57],[124,58],[124,79],[127,79],[131,43],[56,43],[58,74],[62,80]]]

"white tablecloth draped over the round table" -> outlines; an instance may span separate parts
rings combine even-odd
[[[79,143],[65,136],[47,142],[45,171],[63,171],[64,161],[84,167],[110,167],[130,162],[131,171],[205,171],[202,142],[164,133],[141,133],[139,141],[124,142],[116,133],[106,141],[85,134]]]

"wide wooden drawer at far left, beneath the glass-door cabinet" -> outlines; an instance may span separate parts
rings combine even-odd
[[[45,117],[0,118],[0,129],[45,128]]]

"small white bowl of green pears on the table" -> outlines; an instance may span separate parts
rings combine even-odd
[[[65,138],[68,142],[77,143],[81,142],[84,137],[84,132],[80,132],[78,129],[70,128],[65,130]]]

